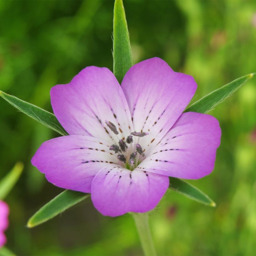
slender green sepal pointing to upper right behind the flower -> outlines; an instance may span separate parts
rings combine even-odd
[[[220,102],[224,101],[228,96],[243,86],[249,79],[254,76],[254,73],[242,76],[229,84],[226,84],[219,89],[209,93],[200,100],[193,103],[184,112],[193,111],[198,113],[206,113],[213,109]]]

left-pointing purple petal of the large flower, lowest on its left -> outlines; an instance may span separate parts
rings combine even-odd
[[[44,142],[31,162],[54,185],[91,191],[91,181],[102,167],[115,163],[107,142],[89,136],[63,136]]]

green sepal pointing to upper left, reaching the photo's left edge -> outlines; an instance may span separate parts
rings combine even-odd
[[[0,91],[0,96],[9,102],[12,106],[16,107],[19,111],[32,117],[43,125],[57,131],[61,135],[67,135],[65,130],[62,128],[61,124],[57,120],[56,116],[52,113],[30,104],[26,101],[22,101],[15,96],[9,95],[3,91]]]

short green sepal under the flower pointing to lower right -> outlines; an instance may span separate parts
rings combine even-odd
[[[178,192],[180,194],[183,194],[186,197],[193,199],[201,204],[206,204],[212,207],[216,206],[214,201],[210,199],[208,195],[204,194],[201,190],[189,184],[188,182],[173,177],[169,177],[169,179],[169,189],[174,190],[175,192]]]

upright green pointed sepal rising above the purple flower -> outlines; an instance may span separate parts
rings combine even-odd
[[[113,25],[114,75],[121,83],[132,66],[129,32],[122,0],[115,1]]]

